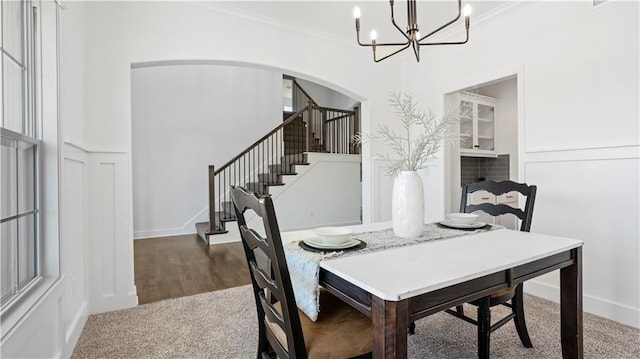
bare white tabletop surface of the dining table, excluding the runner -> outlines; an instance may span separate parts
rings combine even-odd
[[[352,226],[354,232],[390,223]],[[312,231],[282,233],[283,241]],[[582,246],[577,239],[501,229],[322,261],[320,267],[384,300],[412,296],[482,277]]]

